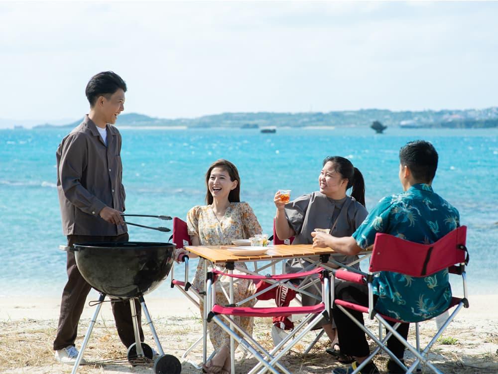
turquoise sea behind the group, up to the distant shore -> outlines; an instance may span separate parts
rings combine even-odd
[[[0,130],[0,296],[59,297],[65,284],[65,243],[56,190],[55,151],[68,129]],[[318,189],[322,160],[342,155],[364,174],[367,209],[401,190],[398,150],[409,140],[431,141],[439,152],[434,190],[468,226],[469,291],[496,294],[498,244],[498,129],[400,129],[376,135],[368,127],[335,129],[123,128],[126,212],[184,218],[204,203],[204,173],[218,158],[234,162],[241,198],[271,233],[273,195],[291,198]],[[128,219],[149,226],[168,221]],[[167,242],[169,233],[129,226],[130,240]],[[195,270],[192,261],[191,271]],[[182,268],[178,267],[178,276]],[[169,282],[154,296],[172,295]],[[177,296],[178,294],[175,293]]]

